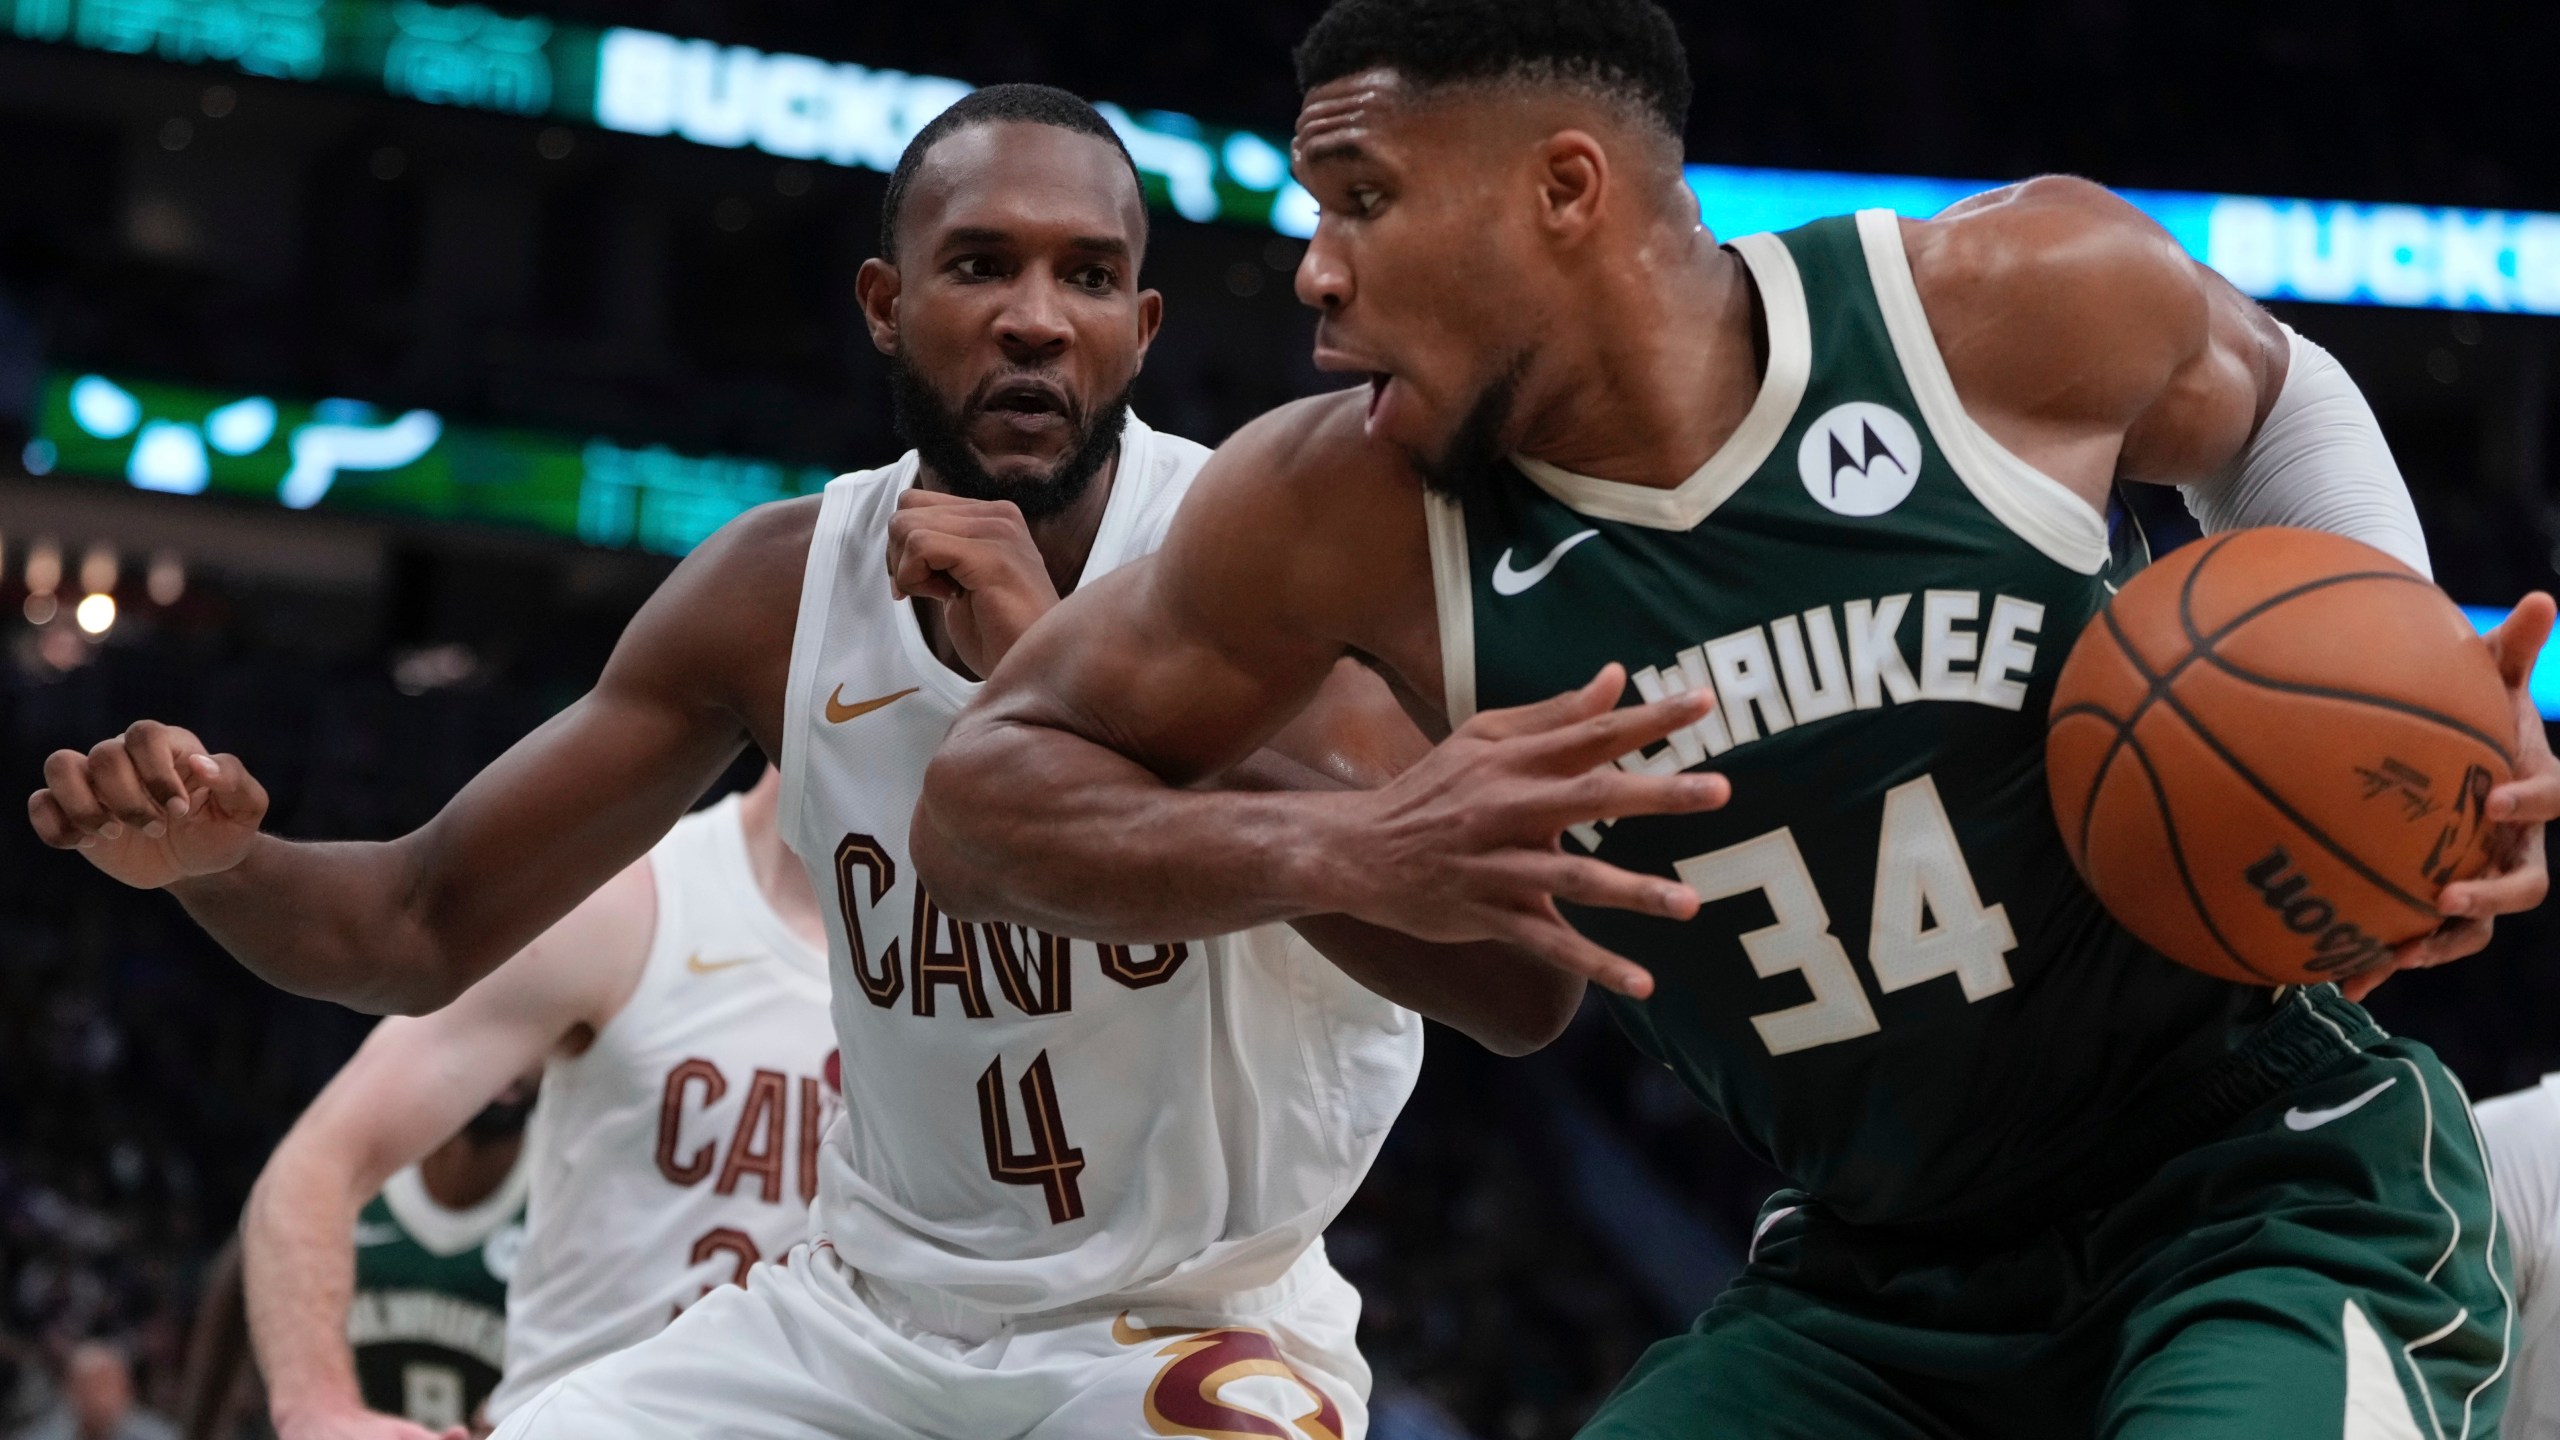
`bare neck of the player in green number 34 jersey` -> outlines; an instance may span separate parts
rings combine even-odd
[[[1751,413],[1769,341],[1748,269],[1708,231],[1664,251],[1603,269],[1569,338],[1539,354],[1521,454],[1669,489]]]

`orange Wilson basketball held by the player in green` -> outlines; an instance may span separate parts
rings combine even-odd
[[[2235,530],[2117,594],[2063,664],[2045,766],[2089,889],[2240,984],[2348,979],[2486,863],[2514,710],[2437,587],[2317,530]]]

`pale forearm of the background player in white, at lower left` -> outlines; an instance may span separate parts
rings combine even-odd
[[[343,1166],[323,1163],[287,1138],[241,1217],[248,1340],[279,1430],[297,1414],[364,1409],[356,1353],[346,1340],[361,1209],[351,1191]]]

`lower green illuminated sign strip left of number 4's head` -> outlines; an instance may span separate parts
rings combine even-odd
[[[507,525],[663,556],[691,551],[750,505],[829,479],[814,466],[451,425],[433,410],[279,402],[102,374],[46,377],[26,466],[161,495]]]

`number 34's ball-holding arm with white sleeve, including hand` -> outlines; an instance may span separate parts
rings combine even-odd
[[[2089,505],[2104,510],[2115,479],[2179,484],[2217,528],[2312,525],[2427,571],[2406,484],[2353,382],[2125,200],[2033,179],[1905,223],[1905,243],[1964,407]],[[2296,374],[2312,384],[2291,387]],[[2516,712],[2516,776],[2488,797],[2499,863],[2445,887],[2445,925],[2404,943],[2401,969],[2476,953],[2496,915],[2542,904],[2560,764],[2527,676],[2550,625],[2552,600],[2527,594],[2488,635]]]

